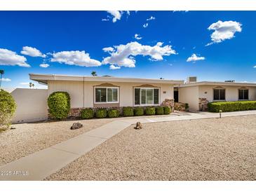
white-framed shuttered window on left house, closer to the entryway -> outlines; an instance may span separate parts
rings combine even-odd
[[[154,105],[159,104],[159,88],[135,88],[135,105]]]

